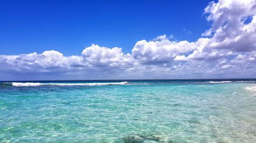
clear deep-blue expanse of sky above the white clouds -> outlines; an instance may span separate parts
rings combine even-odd
[[[1,1],[0,54],[74,55],[93,43],[131,52],[138,40],[163,34],[196,41],[210,27],[203,15],[209,2]]]

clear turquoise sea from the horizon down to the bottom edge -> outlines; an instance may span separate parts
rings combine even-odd
[[[256,142],[256,80],[0,82],[0,142]]]

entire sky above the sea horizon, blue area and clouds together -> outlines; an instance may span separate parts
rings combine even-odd
[[[0,80],[256,78],[256,0],[0,1]]]

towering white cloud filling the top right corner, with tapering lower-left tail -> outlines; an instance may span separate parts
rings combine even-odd
[[[213,36],[208,43],[193,53],[179,55],[177,60],[222,58],[231,53],[256,49],[256,1],[211,2],[205,8],[206,19],[212,27],[202,36]],[[244,21],[250,17],[250,22]]]

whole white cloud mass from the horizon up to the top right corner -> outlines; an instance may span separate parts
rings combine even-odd
[[[86,47],[81,55],[0,55],[2,80],[256,77],[256,1],[211,2],[212,25],[195,42],[166,35],[138,41],[131,53],[119,47]],[[19,76],[17,76],[19,75]]]

